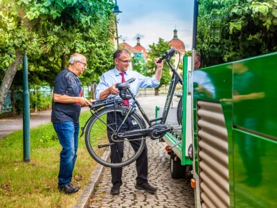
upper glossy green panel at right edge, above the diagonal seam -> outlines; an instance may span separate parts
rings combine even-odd
[[[271,53],[233,63],[233,123],[277,141],[276,62]]]

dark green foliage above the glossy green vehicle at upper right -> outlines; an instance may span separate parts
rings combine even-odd
[[[197,51],[204,67],[277,51],[277,0],[199,0]]]

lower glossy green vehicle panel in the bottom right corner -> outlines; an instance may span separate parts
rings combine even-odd
[[[277,207],[277,141],[233,131],[235,207]]]

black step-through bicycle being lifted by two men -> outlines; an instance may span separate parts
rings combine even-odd
[[[96,162],[111,168],[127,166],[141,155],[147,137],[152,140],[160,139],[166,135],[166,132],[171,130],[165,124],[166,118],[177,84],[181,83],[183,85],[183,80],[177,69],[170,64],[170,58],[177,53],[179,52],[171,47],[159,60],[161,62],[165,59],[172,71],[172,79],[161,117],[149,119],[145,114],[139,101],[136,100],[136,96],[129,88],[129,84],[134,82],[135,78],[119,83],[116,86],[120,91],[119,98],[114,96],[92,103],[92,115],[82,128],[82,135],[84,130],[86,130],[85,143],[87,150]],[[128,107],[123,106],[123,100],[131,98],[133,103]],[[136,106],[143,117],[136,112]],[[127,119],[128,117],[131,117],[131,119]],[[146,127],[143,119],[148,123],[149,128]],[[129,121],[132,121],[131,128],[124,129],[123,123]],[[115,150],[113,155],[111,155],[111,148]]]

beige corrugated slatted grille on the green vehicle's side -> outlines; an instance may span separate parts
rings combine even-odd
[[[220,103],[197,102],[202,207],[230,207],[228,135]]]

